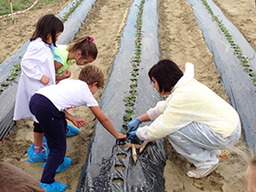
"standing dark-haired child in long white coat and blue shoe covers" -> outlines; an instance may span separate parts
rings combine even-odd
[[[64,30],[58,17],[48,14],[37,21],[37,27],[30,38],[30,44],[21,61],[14,120],[33,118],[28,103],[32,95],[40,88],[56,83],[54,60],[50,45],[56,46],[59,35]],[[35,152],[29,155],[29,162],[44,162],[47,151],[43,145],[40,124],[34,119]],[[41,137],[41,138],[37,138]],[[38,142],[37,142],[38,141]]]

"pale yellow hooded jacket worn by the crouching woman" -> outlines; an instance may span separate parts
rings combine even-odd
[[[192,122],[207,124],[215,133],[229,136],[240,122],[238,112],[207,86],[194,79],[194,65],[186,63],[184,76],[166,101],[147,112],[153,123],[140,127],[136,135],[152,141],[174,133]]]

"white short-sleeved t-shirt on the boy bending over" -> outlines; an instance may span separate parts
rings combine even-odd
[[[38,90],[51,101],[60,112],[71,106],[99,106],[88,85],[82,80],[60,80],[57,85],[51,85]]]

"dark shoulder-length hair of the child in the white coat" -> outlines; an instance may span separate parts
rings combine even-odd
[[[39,18],[36,31],[30,38],[30,41],[35,40],[37,37],[41,37],[42,40],[47,43],[48,35],[50,35],[52,44],[56,47],[56,34],[63,32],[63,30],[63,22],[53,14],[48,14]]]

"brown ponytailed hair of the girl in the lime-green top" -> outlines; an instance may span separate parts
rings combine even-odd
[[[69,45],[69,51],[81,51],[81,56],[84,59],[96,59],[98,55],[98,49],[94,43],[94,38],[90,36],[83,36],[76,39],[72,44]]]

